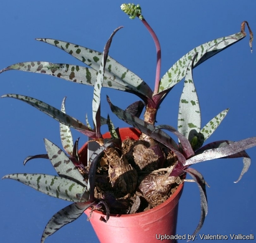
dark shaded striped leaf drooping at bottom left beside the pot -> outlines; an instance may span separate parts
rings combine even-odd
[[[69,224],[79,218],[83,212],[93,204],[94,203],[89,202],[75,202],[54,214],[44,229],[41,243],[44,243],[48,236],[58,231],[64,225]]]

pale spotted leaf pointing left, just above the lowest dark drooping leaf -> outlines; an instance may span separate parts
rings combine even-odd
[[[76,194],[86,190],[73,180],[45,174],[9,174],[2,179],[17,180],[39,192],[71,202],[80,202]]]

